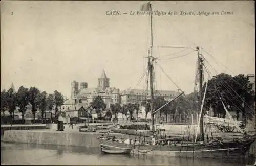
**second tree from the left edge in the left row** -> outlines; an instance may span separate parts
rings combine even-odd
[[[10,88],[6,93],[6,106],[10,113],[11,120],[13,120],[13,114],[16,109],[17,94],[12,88]]]

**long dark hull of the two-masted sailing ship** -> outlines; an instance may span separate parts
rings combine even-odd
[[[250,145],[255,139],[246,142],[229,141],[226,143],[211,144],[183,144],[183,145],[136,145],[98,138],[100,145],[114,148],[132,149],[132,154],[162,155],[191,158],[238,158],[247,157]]]

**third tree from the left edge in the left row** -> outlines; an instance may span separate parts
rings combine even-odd
[[[29,89],[24,86],[20,86],[17,92],[17,106],[19,111],[22,112],[22,123],[24,124],[24,114],[29,104]]]

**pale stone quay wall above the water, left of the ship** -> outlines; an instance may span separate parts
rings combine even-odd
[[[68,131],[40,131],[40,130],[8,130],[5,131],[3,140],[10,143],[65,145],[100,147],[97,140],[102,133],[97,132],[68,132]],[[127,135],[110,134],[118,138],[127,139]],[[134,136],[129,136],[135,138]]]

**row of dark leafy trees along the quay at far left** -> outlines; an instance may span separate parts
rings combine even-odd
[[[51,112],[51,119],[53,120],[52,110],[55,108],[55,114],[58,107],[63,105],[63,95],[57,90],[53,94],[47,94],[46,91],[40,91],[36,87],[25,88],[20,86],[18,91],[15,92],[14,88],[1,91],[1,112],[9,111],[11,119],[14,117],[14,111],[18,109],[22,113],[22,120],[24,123],[24,114],[31,106],[33,114],[33,123],[35,120],[35,112],[39,109],[42,118],[46,118],[46,110]]]

